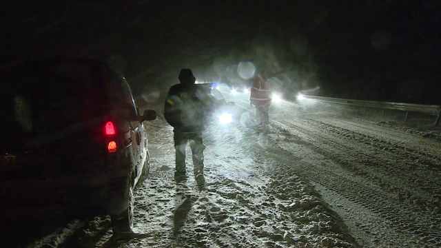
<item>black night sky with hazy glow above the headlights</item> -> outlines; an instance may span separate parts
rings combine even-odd
[[[34,2],[2,3],[2,61],[103,59],[136,94],[252,61],[292,92],[441,105],[437,0]]]

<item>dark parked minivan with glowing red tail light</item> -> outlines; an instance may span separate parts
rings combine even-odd
[[[0,219],[109,214],[131,231],[156,112],[139,112],[123,75],[92,59],[16,61],[0,88]]]

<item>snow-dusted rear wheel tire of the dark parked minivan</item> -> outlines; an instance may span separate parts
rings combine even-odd
[[[121,211],[120,214],[114,214],[110,216],[112,221],[112,230],[114,234],[132,233],[132,228],[134,225],[134,198],[133,198],[132,183],[129,183],[127,194],[128,194],[127,209]]]

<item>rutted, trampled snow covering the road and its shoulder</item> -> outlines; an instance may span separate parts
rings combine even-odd
[[[245,98],[233,101],[245,121],[254,115]],[[273,103],[267,139],[240,124],[207,132],[200,191],[192,177],[174,182],[172,128],[161,104],[151,107],[158,119],[146,123],[151,170],[135,192],[135,234],[114,238],[101,216],[28,247],[441,247],[439,127],[311,100]]]

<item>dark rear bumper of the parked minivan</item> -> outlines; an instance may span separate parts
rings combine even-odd
[[[57,179],[1,180],[0,219],[117,214],[127,207],[128,174],[111,169]]]

